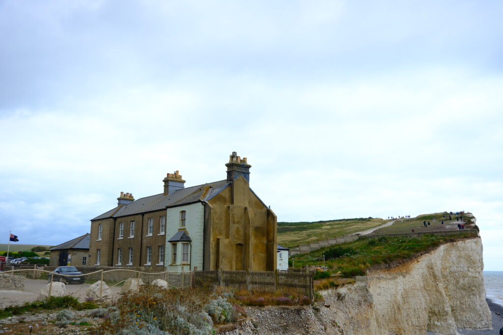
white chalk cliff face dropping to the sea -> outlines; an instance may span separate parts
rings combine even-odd
[[[329,307],[302,313],[250,308],[249,315],[259,322],[243,324],[239,333],[270,333],[267,324],[285,334],[424,335],[427,330],[456,334],[456,327],[490,329],[482,268],[479,238],[448,243],[407,264],[357,277],[354,285],[322,291]],[[278,323],[283,324],[281,331]]]

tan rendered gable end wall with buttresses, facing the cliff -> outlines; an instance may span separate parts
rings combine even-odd
[[[274,271],[277,218],[243,177],[206,208],[205,270]]]

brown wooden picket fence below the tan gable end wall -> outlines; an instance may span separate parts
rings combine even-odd
[[[194,271],[194,287],[225,286],[256,292],[303,294],[313,299],[313,272],[309,271]]]

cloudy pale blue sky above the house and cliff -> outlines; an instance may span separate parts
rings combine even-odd
[[[3,243],[66,242],[237,151],[278,221],[465,210],[503,271],[502,11],[0,0]]]

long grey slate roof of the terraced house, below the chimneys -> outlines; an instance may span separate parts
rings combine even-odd
[[[231,182],[228,180],[219,180],[212,183],[182,188],[166,196],[160,193],[139,198],[127,205],[117,206],[99,216],[96,216],[91,219],[91,221],[108,217],[121,217],[161,210],[168,206],[184,205],[197,201],[208,201],[230,184]]]

